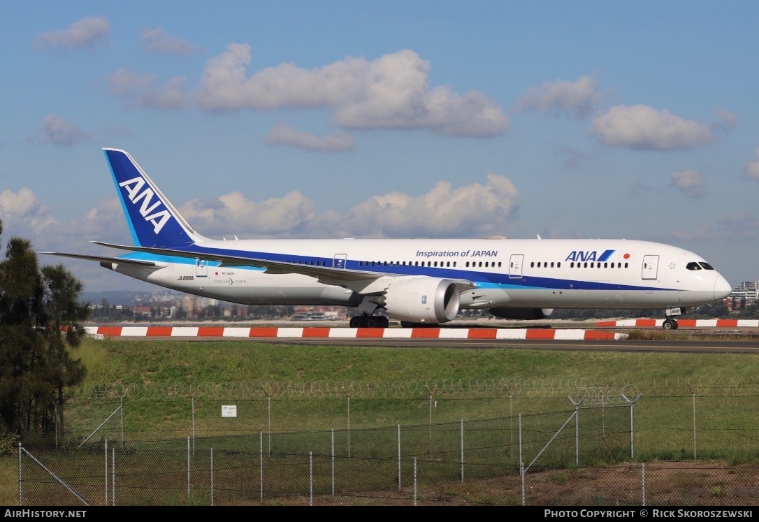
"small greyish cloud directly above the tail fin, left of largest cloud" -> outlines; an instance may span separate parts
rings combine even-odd
[[[124,99],[125,108],[181,108],[190,97],[183,77],[172,78],[162,86],[155,83],[155,75],[135,74],[125,68],[108,79],[109,90],[113,96]]]

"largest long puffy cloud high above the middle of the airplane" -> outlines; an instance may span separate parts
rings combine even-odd
[[[201,105],[219,111],[332,108],[333,123],[346,128],[424,128],[450,136],[489,137],[509,127],[499,105],[481,93],[430,89],[430,62],[410,50],[373,61],[348,57],[310,70],[279,64],[251,77],[248,64],[246,44],[230,44],[211,58],[201,80]]]

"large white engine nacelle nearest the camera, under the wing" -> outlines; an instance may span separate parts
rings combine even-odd
[[[450,279],[400,278],[385,291],[387,315],[408,322],[449,322],[458,316],[461,294]]]

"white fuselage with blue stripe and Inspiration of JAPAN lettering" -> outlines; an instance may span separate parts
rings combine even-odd
[[[376,273],[377,288],[383,279],[414,275],[471,281],[472,288],[461,292],[462,309],[688,307],[719,300],[731,290],[700,256],[648,241],[234,240],[196,247],[199,253],[270,259],[298,268]],[[109,268],[166,288],[245,304],[355,306],[361,294],[373,291],[360,283],[341,285],[286,270],[266,271],[254,263],[219,266],[180,257],[150,259],[158,259],[159,266],[114,263]]]

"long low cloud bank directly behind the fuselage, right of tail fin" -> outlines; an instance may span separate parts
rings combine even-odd
[[[512,225],[519,195],[512,181],[488,175],[487,184],[452,188],[439,181],[418,197],[391,192],[344,215],[317,214],[300,192],[257,203],[240,192],[192,200],[180,212],[209,237],[490,237]]]

